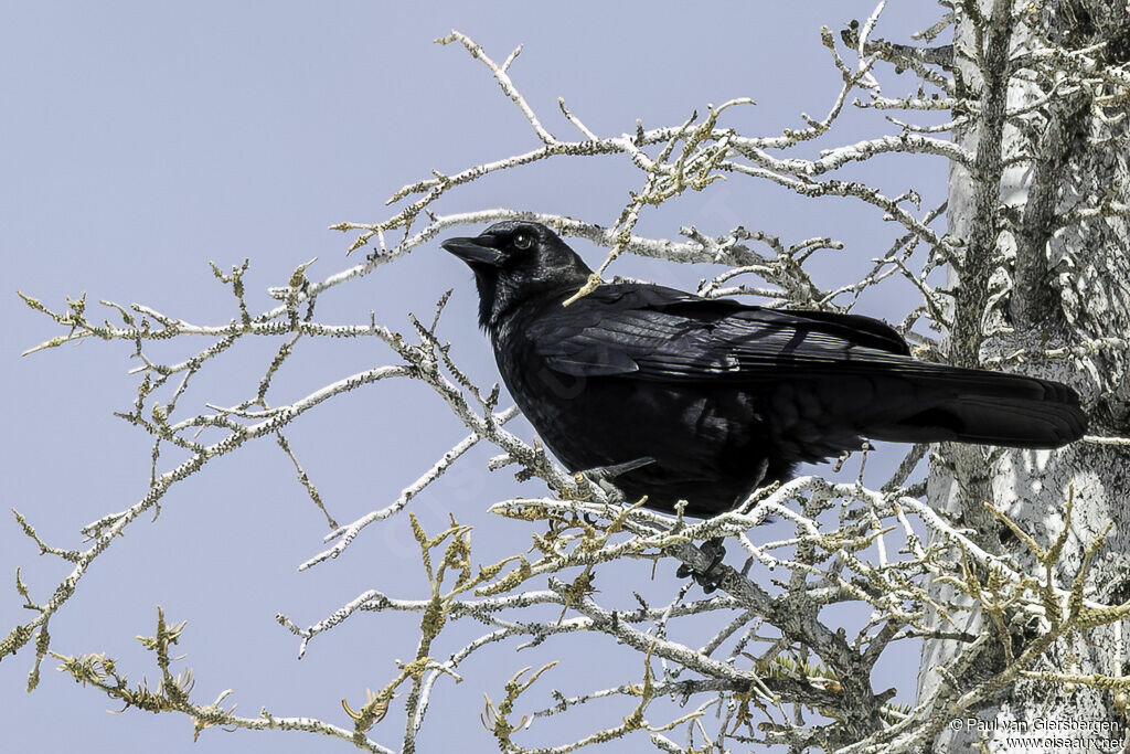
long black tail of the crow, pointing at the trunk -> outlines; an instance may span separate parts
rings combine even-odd
[[[1066,384],[1022,374],[921,362],[888,373],[876,388],[877,411],[861,434],[895,442],[971,442],[1009,448],[1059,448],[1081,437],[1087,415]],[[921,370],[921,371],[919,371]],[[896,376],[897,375],[897,376]],[[894,384],[903,382],[903,384]],[[888,388],[890,392],[884,390]],[[897,400],[906,389],[912,401]],[[895,410],[884,410],[884,404]]]

